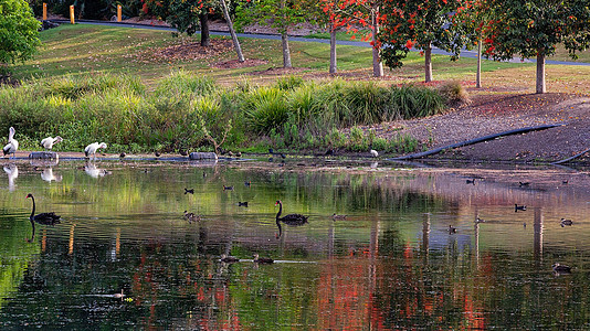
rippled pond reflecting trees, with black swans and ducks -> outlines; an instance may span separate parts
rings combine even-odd
[[[0,328],[590,328],[583,170],[308,163],[4,160]]]

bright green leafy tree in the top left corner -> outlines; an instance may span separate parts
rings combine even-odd
[[[41,44],[40,28],[27,1],[0,0],[0,64],[31,58]]]

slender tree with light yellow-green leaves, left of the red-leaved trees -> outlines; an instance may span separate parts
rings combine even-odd
[[[305,10],[297,2],[286,0],[252,0],[242,2],[236,10],[236,25],[259,23],[275,28],[281,33],[283,49],[283,67],[293,67],[288,46],[288,30],[291,26],[304,22]]]

